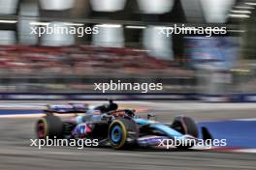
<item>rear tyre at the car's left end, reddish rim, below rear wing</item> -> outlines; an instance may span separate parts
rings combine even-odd
[[[36,125],[36,132],[39,139],[49,139],[54,137],[57,139],[62,138],[62,122],[53,115],[48,115],[38,120]]]

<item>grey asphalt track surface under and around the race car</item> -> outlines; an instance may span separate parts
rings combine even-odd
[[[157,104],[157,103],[156,103]],[[159,121],[167,122],[180,110],[169,112],[155,108]],[[141,113],[145,116],[147,111]],[[195,117],[197,121],[235,118],[255,118],[255,110],[182,110],[179,113]],[[214,116],[210,116],[215,113]],[[30,138],[35,138],[36,118],[0,119],[0,169],[45,170],[45,169],[256,169],[255,154],[216,151],[170,151],[159,149],[134,149],[115,151],[111,148],[48,147],[39,150],[30,147]]]

